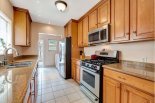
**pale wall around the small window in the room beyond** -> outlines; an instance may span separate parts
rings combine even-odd
[[[59,53],[59,41],[61,36],[52,36],[40,34],[39,39],[44,40],[44,66],[54,66],[55,65],[55,54]],[[48,40],[57,40],[57,51],[51,52],[48,51]]]

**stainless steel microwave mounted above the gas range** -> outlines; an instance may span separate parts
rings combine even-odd
[[[101,44],[110,42],[110,25],[107,24],[88,32],[88,44]]]

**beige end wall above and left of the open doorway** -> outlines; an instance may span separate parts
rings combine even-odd
[[[64,36],[64,27],[42,24],[37,22],[31,23],[31,47],[22,47],[23,55],[38,55],[38,34],[56,34]]]

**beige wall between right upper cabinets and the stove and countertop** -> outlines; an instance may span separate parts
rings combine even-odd
[[[108,44],[94,47],[85,47],[86,56],[94,54],[96,50],[110,49],[119,50],[121,60],[141,61],[141,57],[147,57],[148,63],[154,63],[154,41],[134,42],[124,44]]]

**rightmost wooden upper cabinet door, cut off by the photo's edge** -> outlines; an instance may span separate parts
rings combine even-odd
[[[133,39],[154,38],[154,0],[132,0]]]

